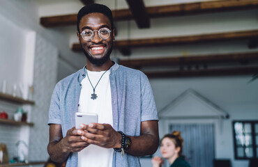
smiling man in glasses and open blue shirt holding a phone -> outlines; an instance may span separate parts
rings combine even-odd
[[[59,81],[50,104],[52,160],[66,166],[140,166],[158,148],[158,115],[145,74],[110,60],[114,40],[107,6],[84,6],[77,37],[86,66]],[[75,129],[75,113],[97,113],[98,123]]]

